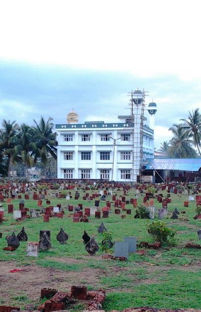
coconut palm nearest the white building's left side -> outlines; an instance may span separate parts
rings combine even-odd
[[[40,158],[41,162],[45,167],[45,176],[47,174],[47,163],[49,156],[57,158],[57,133],[53,132],[54,124],[51,122],[53,119],[51,117],[48,118],[47,122],[45,122],[44,118],[40,118],[40,122],[36,124],[35,130],[35,141],[37,147],[40,149]]]

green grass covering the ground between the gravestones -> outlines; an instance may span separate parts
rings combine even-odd
[[[75,191],[72,192],[72,195],[74,193]],[[92,191],[89,193],[91,194]],[[118,196],[122,195],[122,191],[113,191],[114,193],[118,193]],[[162,193],[163,195],[167,194],[166,191]],[[82,200],[83,194],[80,191],[80,200],[72,199],[67,201],[59,198],[53,199],[50,195],[48,197],[52,206],[56,206],[57,203],[62,203],[63,207],[67,204],[76,206],[78,203],[82,203],[84,208],[94,206],[94,200],[91,202]],[[134,194],[135,191],[129,191],[126,199],[133,197]],[[139,196],[138,202],[142,198]],[[106,300],[103,306],[106,311],[122,310],[132,306],[172,309],[200,308],[201,250],[187,250],[183,247],[186,242],[199,243],[197,230],[201,229],[201,220],[193,219],[195,201],[190,202],[188,208],[183,207],[183,201],[187,200],[187,198],[187,195],[180,197],[171,194],[172,203],[168,204],[169,212],[173,211],[175,207],[179,211],[185,210],[186,214],[179,217],[187,217],[189,220],[187,222],[180,219],[172,220],[170,219],[171,214],[165,219],[168,226],[177,231],[177,246],[174,248],[163,247],[157,251],[147,250],[145,255],[130,254],[126,262],[103,259],[101,251],[95,257],[89,256],[81,236],[85,230],[90,236],[94,236],[98,243],[101,243],[102,235],[98,234],[97,228],[103,220],[106,228],[112,232],[114,241],[122,241],[124,236],[136,236],[139,242],[141,240],[152,242],[152,237],[147,233],[147,227],[151,221],[134,219],[135,209],[130,204],[126,205],[126,208],[132,209],[132,215],[126,215],[125,219],[121,219],[121,215],[115,215],[114,207],[112,207],[112,213],[109,214],[107,219],[100,220],[91,216],[89,223],[73,223],[72,213],[67,212],[64,208],[65,215],[63,219],[50,218],[49,223],[43,223],[43,219],[40,217],[26,219],[19,224],[12,225],[12,223],[16,222],[13,215],[7,214],[8,204],[3,203],[7,221],[0,225],[0,232],[3,235],[0,239],[0,267],[6,268],[8,263],[13,263],[14,268],[18,266],[34,267],[39,268],[41,271],[42,268],[53,271],[55,269],[55,278],[57,274],[63,275],[63,278],[66,276],[68,285],[79,282],[79,284],[86,285],[88,289],[103,288],[106,290]],[[112,200],[111,196],[108,199]],[[16,209],[19,207],[19,201],[12,201]],[[43,200],[44,207],[46,207],[45,203],[46,201]],[[155,200],[155,204],[157,208],[161,208],[161,204],[157,200]],[[104,207],[105,203],[101,202],[100,206]],[[27,200],[25,201],[25,207],[38,208],[37,201]],[[48,252],[40,253],[38,258],[26,256],[26,242],[21,242],[20,247],[14,252],[3,251],[2,248],[7,246],[5,236],[12,234],[13,231],[18,234],[22,226],[25,227],[29,241],[39,241],[40,230],[51,230],[52,248]],[[56,235],[59,233],[61,226],[69,235],[66,245],[60,245],[56,240]],[[51,288],[49,276],[44,276],[44,281]],[[64,290],[63,286],[60,287],[59,282],[57,285],[60,291]],[[36,304],[40,302],[40,298],[34,294],[31,297],[32,300],[30,300],[29,290],[23,284],[17,290],[17,294],[14,291],[15,289],[15,282],[11,278],[8,295],[6,299],[0,295],[0,303],[12,303],[23,308],[30,301]],[[73,311],[79,310],[83,310],[82,305],[74,308]]]

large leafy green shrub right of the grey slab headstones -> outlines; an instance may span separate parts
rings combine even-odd
[[[154,237],[155,241],[176,245],[176,232],[168,228],[163,221],[153,221],[148,227],[148,233]]]

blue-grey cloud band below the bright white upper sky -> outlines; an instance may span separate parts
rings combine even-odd
[[[79,122],[119,121],[129,115],[128,92],[144,88],[146,104],[157,103],[155,146],[169,140],[167,131],[188,111],[201,107],[199,82],[181,81],[175,76],[139,78],[128,72],[76,70],[65,66],[40,66],[19,62],[0,62],[1,118],[33,124],[40,116],[66,123],[74,108]],[[146,117],[149,117],[147,106]],[[149,124],[149,121],[146,122]]]

